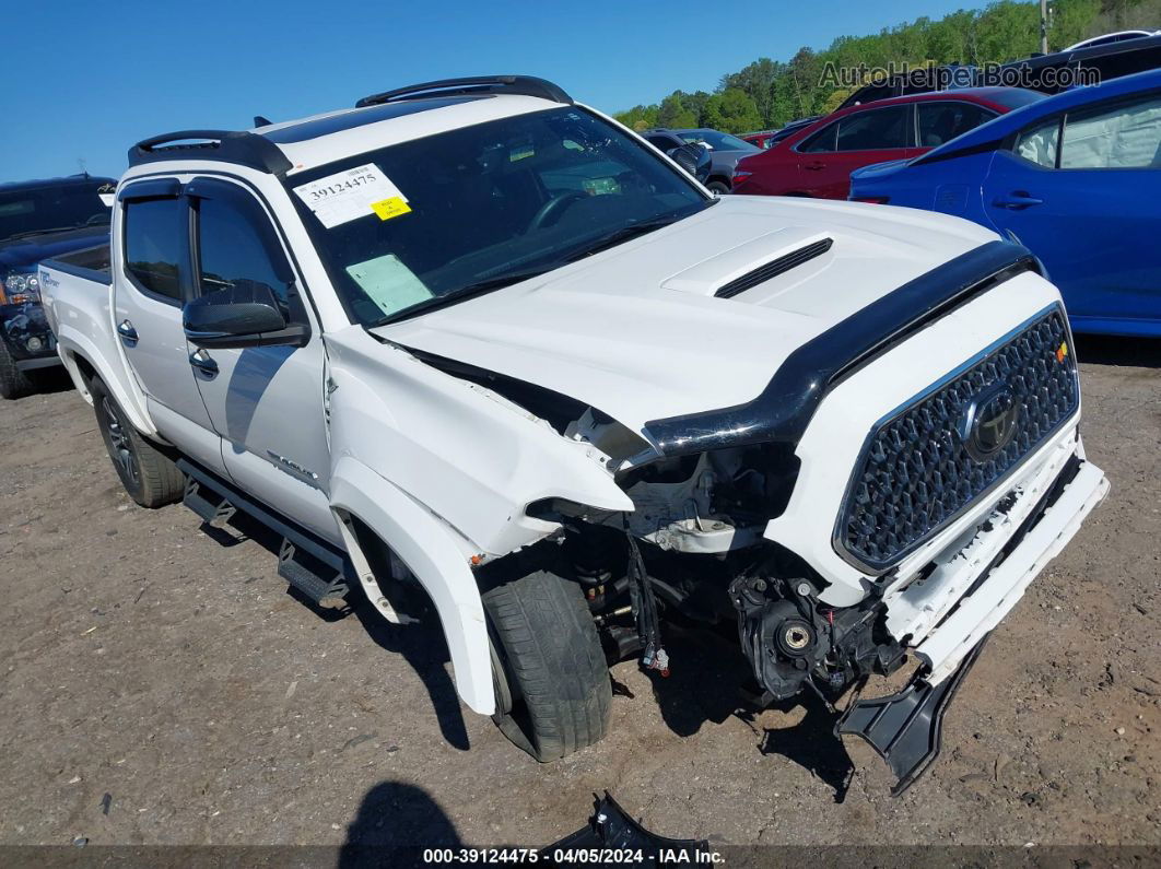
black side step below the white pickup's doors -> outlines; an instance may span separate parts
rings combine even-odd
[[[182,498],[189,509],[209,524],[222,524],[237,510],[258,520],[282,536],[279,548],[279,575],[324,609],[345,606],[349,591],[347,577],[353,571],[345,552],[319,539],[209,471],[182,458],[178,468],[186,475]]]

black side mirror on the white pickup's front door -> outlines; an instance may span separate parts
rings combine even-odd
[[[197,347],[302,347],[310,336],[307,326],[287,323],[274,290],[258,281],[236,281],[187,302],[181,319]]]

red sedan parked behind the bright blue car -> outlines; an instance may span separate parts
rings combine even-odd
[[[733,191],[845,200],[854,169],[918,157],[1043,99],[1018,87],[974,87],[851,106],[743,158],[734,171]]]

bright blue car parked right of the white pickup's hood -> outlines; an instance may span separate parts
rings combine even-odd
[[[982,224],[1040,258],[1075,331],[1161,338],[1161,70],[1051,96],[915,160],[866,166],[850,198]]]

